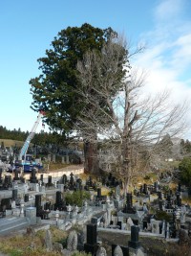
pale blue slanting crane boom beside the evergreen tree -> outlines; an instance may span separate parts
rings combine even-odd
[[[26,158],[26,153],[27,153],[27,151],[29,149],[29,146],[30,146],[32,138],[33,138],[33,136],[35,134],[36,128],[38,127],[38,125],[40,123],[40,120],[41,120],[43,115],[44,115],[43,111],[40,111],[38,116],[37,116],[37,120],[35,121],[35,123],[34,123],[34,125],[32,127],[32,130],[31,130],[30,134],[28,135],[28,137],[27,137],[27,139],[26,139],[26,141],[25,141],[25,143],[24,143],[24,145],[23,145],[23,147],[22,147],[22,149],[21,149],[21,151],[19,153],[19,157],[18,157],[19,160],[22,160],[23,156],[24,156],[24,159]]]

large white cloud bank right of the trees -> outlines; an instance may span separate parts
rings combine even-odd
[[[147,50],[135,64],[148,70],[145,92],[171,90],[172,102],[191,102],[191,18],[183,17],[188,0],[163,0],[154,10],[154,30],[141,35]],[[191,127],[191,115],[188,111]],[[185,137],[191,140],[191,131]]]

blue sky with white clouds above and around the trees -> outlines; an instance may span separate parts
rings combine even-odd
[[[29,81],[39,74],[36,59],[59,31],[85,22],[144,42],[146,51],[135,61],[149,73],[148,91],[168,87],[175,102],[190,101],[190,12],[190,0],[1,1],[0,126],[31,130],[37,113],[30,108]]]

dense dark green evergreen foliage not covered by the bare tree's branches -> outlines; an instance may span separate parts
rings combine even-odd
[[[77,60],[88,51],[99,53],[111,36],[117,35],[111,28],[99,29],[90,24],[81,27],[68,27],[58,33],[52,42],[52,49],[46,51],[45,58],[39,58],[41,75],[30,81],[32,85],[32,109],[46,112],[45,122],[54,130],[62,133],[73,131],[76,117],[84,108],[76,88]],[[86,141],[88,155],[94,154],[95,147]],[[87,154],[86,154],[87,155]],[[89,161],[91,162],[91,161]],[[87,167],[92,172],[94,165]]]

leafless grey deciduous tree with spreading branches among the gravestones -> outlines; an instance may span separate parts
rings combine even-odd
[[[103,47],[101,55],[89,52],[78,62],[83,89],[77,92],[89,108],[81,112],[76,130],[83,138],[101,142],[99,166],[120,176],[128,189],[132,177],[155,164],[165,151],[160,143],[163,136],[174,137],[183,131],[186,107],[170,103],[166,91],[144,99],[144,74],[131,68],[129,51],[124,65],[124,48],[124,41],[116,39]],[[123,76],[118,72],[121,64]]]

